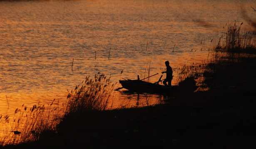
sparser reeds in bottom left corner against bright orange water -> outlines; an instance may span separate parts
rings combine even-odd
[[[31,108],[22,105],[12,116],[1,115],[0,145],[32,142],[42,137],[45,132],[54,133],[63,112],[61,112],[62,108],[53,105],[53,102],[48,106],[38,103]]]

